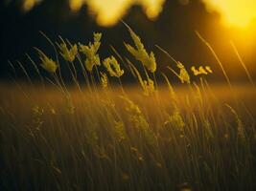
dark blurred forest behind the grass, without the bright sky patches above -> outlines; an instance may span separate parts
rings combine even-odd
[[[215,58],[198,39],[195,33],[198,31],[220,56],[232,81],[243,82],[247,79],[230,45],[231,40],[242,55],[250,73],[254,79],[256,78],[256,25],[252,23],[251,26],[254,27],[244,29],[223,25],[221,14],[218,11],[208,11],[200,0],[166,0],[162,1],[161,5],[162,10],[153,19],[149,16],[151,12],[145,11],[141,5],[131,6],[122,17],[133,31],[141,36],[146,48],[155,53],[158,70],[165,71],[168,64],[174,63],[154,45],[165,49],[188,68],[193,65],[211,66],[214,74],[207,76],[208,80],[223,81],[221,69]],[[130,42],[130,37],[122,22],[107,25],[101,23],[86,4],[82,4],[81,8],[73,6],[75,7],[70,7],[67,0],[43,0],[31,9],[24,8],[21,1],[1,1],[0,77],[2,81],[10,80],[10,76],[13,76],[8,60],[14,64],[16,60],[20,60],[29,74],[33,74],[30,73],[33,67],[25,56],[25,53],[29,53],[36,60],[33,47],[54,56],[53,48],[39,31],[47,34],[53,41],[58,41],[58,35],[61,35],[72,43],[83,44],[92,40],[92,32],[103,32],[103,44],[100,49],[102,59],[113,53],[109,45],[115,47],[122,55],[130,56],[123,44],[124,41]],[[22,79],[23,74],[18,73],[17,77]],[[127,77],[126,80],[129,81],[129,78]]]

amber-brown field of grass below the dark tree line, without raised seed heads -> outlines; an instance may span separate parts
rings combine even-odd
[[[184,127],[168,120],[173,106],[166,88],[159,90],[159,97],[127,88],[128,97],[150,124],[153,143],[129,120],[127,104],[117,96],[121,90],[108,96],[103,91],[93,95],[70,91],[74,107],[70,113],[56,89],[24,85],[22,89],[29,99],[14,85],[1,85],[3,190],[255,188],[255,117],[246,114],[246,109],[254,108],[244,107],[247,103],[239,107],[245,135],[240,137],[236,117],[223,105],[235,104],[228,93],[223,99],[224,88],[212,88],[215,97],[208,91],[198,96],[176,88]],[[254,100],[244,95],[251,89],[236,90],[243,93],[239,100]],[[123,134],[118,129],[122,127]]]

